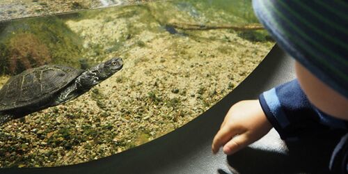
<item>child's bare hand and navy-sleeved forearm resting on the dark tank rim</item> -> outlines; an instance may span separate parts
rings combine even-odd
[[[212,150],[217,152],[224,146],[223,151],[230,155],[260,139],[271,127],[280,138],[287,139],[328,127],[348,129],[348,122],[327,116],[310,104],[295,79],[267,90],[259,100],[233,105],[214,138]]]

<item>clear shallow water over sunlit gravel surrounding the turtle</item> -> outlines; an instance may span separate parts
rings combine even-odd
[[[207,0],[0,24],[0,86],[40,65],[86,70],[112,57],[124,62],[77,99],[1,125],[0,166],[77,164],[177,129],[221,100],[269,52],[274,42],[256,22],[251,1]]]

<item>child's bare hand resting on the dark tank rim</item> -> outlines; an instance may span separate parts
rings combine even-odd
[[[272,128],[258,100],[244,100],[234,104],[222,122],[212,143],[212,151],[231,155],[257,141]]]

